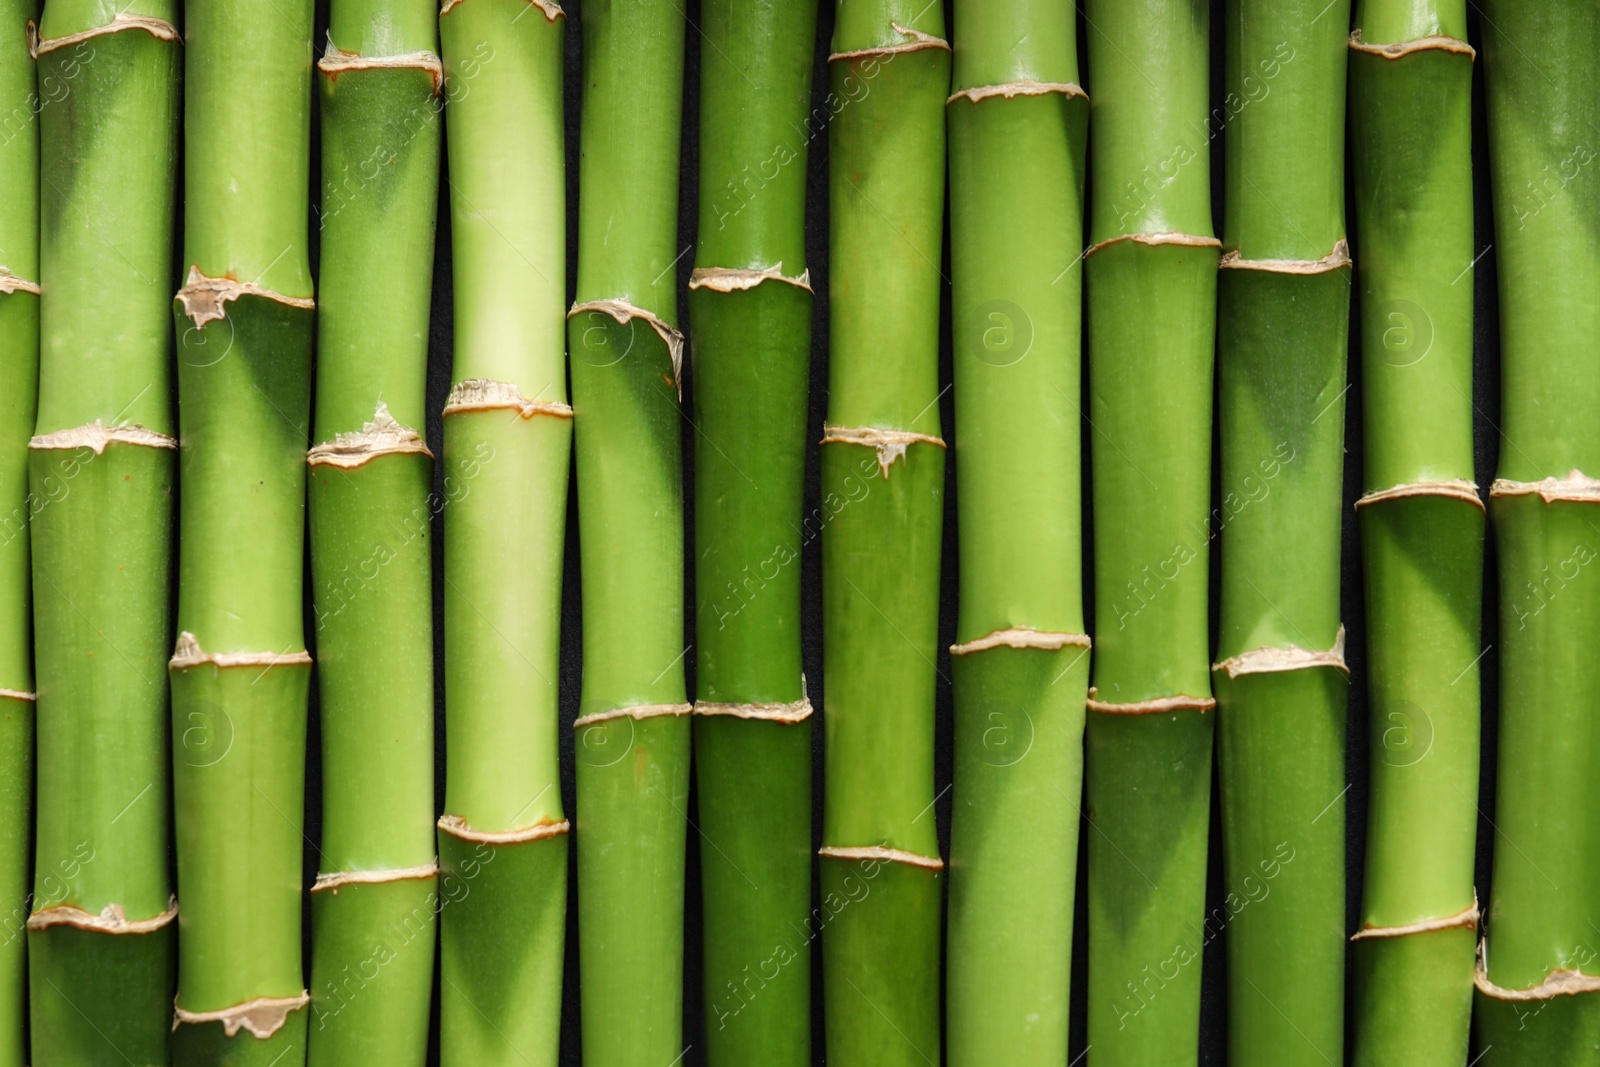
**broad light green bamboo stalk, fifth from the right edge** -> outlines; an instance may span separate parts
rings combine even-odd
[[[1090,645],[1075,262],[1088,99],[1077,80],[1070,5],[955,6],[946,106],[962,590],[962,643],[950,649],[955,1067],[1067,1062]],[[920,392],[907,400],[926,403]]]

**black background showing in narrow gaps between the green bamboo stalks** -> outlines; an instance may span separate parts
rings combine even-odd
[[[659,0],[661,3],[682,3],[685,5],[685,14],[688,18],[686,32],[686,61],[685,61],[685,78],[683,78],[683,155],[682,155],[682,190],[680,190],[680,222],[678,222],[678,251],[690,250],[688,254],[682,256],[678,261],[678,307],[686,309],[686,293],[688,275],[694,262],[693,245],[696,232],[696,205],[698,205],[698,147],[699,147],[699,56],[704,38],[699,32],[699,2],[698,0]],[[963,0],[952,0],[952,3],[962,3]],[[965,0],[966,3],[979,3],[981,0]],[[582,78],[582,56],[581,56],[581,26],[582,26],[582,2],[566,0],[568,11],[566,19],[566,230],[568,230],[568,254],[566,254],[566,290],[568,302],[571,301],[576,270],[578,270],[578,160],[582,149],[579,139],[579,102],[581,102],[581,78]],[[947,10],[950,5],[946,5]],[[1469,0],[1469,11],[1472,13],[1472,45],[1482,48],[1478,40],[1480,18],[1477,5]],[[832,0],[819,0],[819,26],[816,34],[816,62],[813,70],[813,109],[814,114],[827,114],[824,107],[824,99],[827,96],[827,51],[829,40],[832,37],[834,24],[834,5]],[[949,18],[949,16],[947,16]],[[1224,11],[1219,0],[1213,2],[1211,11],[1211,104],[1219,107],[1222,102],[1222,26]],[[315,43],[320,53],[322,43],[326,40],[328,26],[328,0],[317,0],[317,30]],[[1094,93],[1094,72],[1086,67],[1086,43],[1090,34],[1096,34],[1091,24],[1083,19],[1082,13],[1078,18],[1078,50],[1080,50],[1080,70],[1083,72],[1080,82],[1090,91],[1093,98]],[[949,34],[946,34],[949,37]],[[448,109],[445,109],[445,120],[448,123]],[[314,120],[315,122],[315,120]],[[312,133],[312,198],[317,198],[318,187],[318,158],[320,152],[317,149],[317,139],[320,133],[314,125]],[[1213,211],[1216,221],[1216,232],[1222,232],[1222,152],[1227,133],[1226,126],[1222,133],[1216,136],[1211,142],[1211,174],[1213,174]],[[1493,478],[1494,462],[1499,450],[1499,430],[1496,429],[1498,413],[1499,413],[1499,378],[1496,373],[1499,358],[1499,341],[1498,341],[1498,314],[1494,304],[1494,285],[1496,285],[1496,264],[1494,251],[1491,248],[1493,242],[1493,221],[1490,213],[1490,187],[1488,187],[1488,171],[1485,157],[1485,125],[1483,125],[1483,64],[1475,64],[1474,72],[1474,195],[1475,195],[1475,251],[1486,253],[1477,262],[1477,274],[1474,278],[1475,286],[1475,312],[1477,322],[1474,328],[1474,403],[1477,408],[1477,418],[1474,421],[1474,453],[1477,466],[1477,482],[1480,486],[1488,486]],[[811,346],[811,400],[810,400],[810,422],[808,422],[808,440],[811,446],[806,453],[806,502],[805,510],[810,514],[813,507],[819,502],[818,488],[818,446],[816,442],[822,435],[822,414],[827,405],[827,280],[829,280],[829,262],[827,262],[827,131],[821,128],[818,134],[811,139],[808,158],[808,219],[806,219],[806,256],[808,266],[811,269],[811,282],[816,288],[816,306],[813,314],[813,346]],[[434,306],[432,306],[432,328],[429,339],[429,368],[427,368],[427,442],[435,454],[442,454],[442,427],[440,427],[440,411],[445,406],[445,398],[450,392],[450,368],[451,368],[451,333],[453,333],[453,302],[451,302],[451,262],[450,262],[450,203],[448,203],[448,152],[445,160],[445,178],[440,182],[440,202],[438,202],[438,243],[435,250],[435,272],[434,272]],[[1349,182],[1347,182],[1349,186]],[[1088,194],[1093,197],[1093,190]],[[1027,210],[1027,205],[1016,205],[1018,210]],[[1354,203],[1347,203],[1347,218],[1354,213]],[[317,226],[315,214],[312,216],[312,258],[315,264],[317,254]],[[1360,266],[1362,251],[1352,243],[1352,256]],[[944,242],[944,275],[949,277],[949,226],[946,224],[946,242]],[[1362,867],[1363,867],[1363,849],[1365,849],[1365,825],[1366,825],[1366,757],[1368,757],[1368,721],[1366,721],[1366,654],[1365,654],[1365,622],[1363,622],[1363,597],[1362,597],[1362,558],[1360,558],[1360,541],[1357,537],[1355,520],[1352,506],[1360,496],[1362,483],[1362,374],[1360,374],[1360,307],[1358,299],[1352,299],[1350,310],[1350,382],[1352,389],[1347,394],[1347,416],[1346,416],[1346,469],[1344,469],[1344,523],[1342,523],[1342,595],[1341,595],[1341,611],[1347,627],[1347,645],[1346,657],[1350,667],[1350,697],[1349,697],[1349,728],[1347,728],[1347,763],[1346,763],[1346,781],[1350,782],[1350,790],[1346,793],[1346,829],[1347,829],[1347,845],[1346,845],[1346,929],[1354,931],[1358,925],[1358,907],[1362,893]],[[690,323],[686,317],[680,320],[680,328],[685,333],[690,331]],[[944,306],[941,310],[941,346],[939,346],[939,381],[947,384],[950,381],[950,307],[949,294],[946,294]],[[1086,360],[1085,360],[1086,366]],[[693,418],[693,352],[685,360],[685,389],[683,389],[683,410],[685,414]],[[941,400],[941,416],[944,421],[944,437],[952,440],[955,437],[955,418],[954,403],[949,390],[944,392]],[[694,450],[694,430],[688,421],[683,422],[682,445],[683,445],[683,488],[685,501],[693,501],[693,450]],[[1093,442],[1090,438],[1090,430],[1083,427],[1083,493],[1085,493],[1085,531],[1091,526],[1091,507],[1090,507],[1090,448]],[[1213,470],[1213,478],[1218,474]],[[939,841],[941,849],[949,854],[949,827],[950,827],[950,768],[952,768],[952,699],[950,699],[950,683],[949,683],[949,653],[947,646],[955,640],[955,603],[957,603],[957,568],[955,568],[955,507],[957,507],[957,480],[955,480],[955,462],[949,464],[947,469],[947,494],[946,494],[946,515],[944,515],[944,585],[941,597],[941,613],[939,613],[939,681],[938,681],[938,697],[936,697],[936,765],[934,765],[934,790],[939,795],[936,813],[939,817]],[[443,493],[440,469],[435,469],[435,491]],[[1219,490],[1214,490],[1216,496]],[[688,523],[688,542],[693,545],[693,507],[686,506],[686,523]],[[1483,765],[1482,765],[1482,784],[1480,784],[1480,822],[1478,822],[1478,862],[1477,862],[1477,885],[1480,896],[1488,891],[1488,873],[1490,859],[1493,846],[1493,814],[1494,814],[1494,752],[1496,752],[1496,736],[1498,736],[1498,649],[1494,648],[1496,638],[1496,613],[1498,613],[1498,595],[1496,595],[1496,573],[1494,573],[1494,545],[1493,533],[1490,534],[1491,542],[1488,547],[1488,563],[1485,573],[1485,625],[1483,625],[1483,646],[1488,653],[1482,659],[1482,685],[1483,685]],[[443,560],[440,555],[440,518],[434,517],[434,622],[435,635],[443,632],[443,616],[442,616],[442,595],[443,595],[443,579],[442,566]],[[307,571],[309,573],[309,571]],[[1085,560],[1083,560],[1083,576],[1086,592],[1086,617],[1093,619],[1093,545],[1088,536],[1085,536]],[[685,624],[685,645],[694,640],[694,621],[693,621],[693,582],[694,582],[694,558],[693,552],[686,552],[685,557],[685,605],[686,605],[686,624]],[[1216,637],[1216,589],[1218,585],[1218,553],[1211,553],[1211,633],[1213,648]],[[822,825],[822,715],[821,710],[826,702],[826,678],[822,673],[822,587],[821,587],[821,545],[818,539],[813,539],[802,553],[802,589],[803,589],[803,661],[805,673],[810,683],[811,701],[818,709],[818,715],[813,718],[814,729],[814,829],[813,835],[821,843],[821,825]],[[578,569],[578,494],[576,480],[571,483],[571,496],[568,504],[568,541],[566,541],[566,565],[565,565],[565,581],[562,590],[562,621],[563,621],[563,637],[562,637],[562,678],[560,678],[560,701],[562,701],[562,792],[563,803],[568,817],[576,811],[576,795],[574,795],[574,766],[573,766],[573,734],[571,721],[578,715],[578,696],[579,696],[579,677],[582,669],[582,627],[581,627],[581,590],[579,590],[579,569]],[[315,627],[312,625],[310,601],[307,590],[307,633],[314,635]],[[315,648],[312,649],[315,653]],[[443,641],[435,637],[435,736],[437,736],[437,779],[435,779],[435,809],[443,809],[443,785],[445,785],[445,731],[443,731]],[[685,656],[683,662],[688,667],[688,683],[690,694],[694,693],[694,656]],[[320,838],[322,824],[322,787],[320,787],[320,753],[318,753],[318,707],[315,686],[312,688],[312,713],[310,713],[310,744],[307,753],[307,808],[306,808],[306,872],[307,886],[310,878],[320,869],[320,857],[317,854],[314,841]],[[1208,907],[1219,907],[1222,902],[1224,889],[1221,880],[1221,832],[1216,817],[1216,795],[1213,784],[1213,832],[1211,832],[1211,872],[1210,872],[1210,888],[1208,888]],[[690,819],[696,819],[696,811],[691,803]],[[1091,833],[1085,827],[1080,835],[1086,841],[1086,835]],[[576,849],[573,851],[573,870],[576,870]],[[814,880],[813,880],[814,893]],[[581,1062],[581,1038],[579,1038],[579,1016],[578,1016],[578,888],[576,880],[570,875],[570,905],[568,905],[568,941],[566,941],[566,982],[562,1005],[562,1064],[579,1064]],[[1077,893],[1077,929],[1075,929],[1075,952],[1074,952],[1074,976],[1072,976],[1072,1051],[1070,1062],[1077,1064],[1078,1056],[1083,1053],[1086,1022],[1085,1022],[1085,992],[1086,992],[1086,953],[1085,953],[1085,904],[1083,904],[1083,849],[1080,846],[1078,857],[1078,893]],[[704,1000],[701,995],[701,909],[699,909],[699,841],[698,835],[691,830],[690,833],[690,857],[688,857],[688,885],[685,896],[685,997],[683,997],[683,1040],[686,1051],[678,1061],[683,1067],[704,1062],[704,1032],[706,1024],[702,1019]],[[1205,950],[1203,961],[1203,992],[1202,992],[1202,1035],[1200,1035],[1200,1062],[1202,1064],[1222,1064],[1226,1062],[1226,1043],[1227,1043],[1227,1013],[1226,1013],[1226,958],[1224,958],[1224,942],[1222,937],[1214,939]],[[307,910],[307,969],[309,969],[309,910]],[[822,989],[821,989],[821,955],[819,942],[813,944],[813,1062],[824,1062],[824,1033],[822,1033]],[[437,992],[435,992],[435,1027],[434,1027],[434,1061],[437,1062]],[[621,1013],[619,1013],[621,1016]],[[651,1064],[642,1064],[640,1067],[658,1067]],[[669,1067],[661,1064],[659,1067]]]

